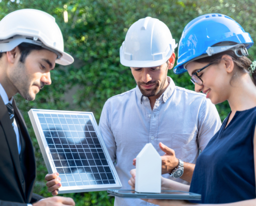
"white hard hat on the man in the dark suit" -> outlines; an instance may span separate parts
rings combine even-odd
[[[9,13],[0,21],[0,52],[8,52],[22,42],[49,49],[58,55],[56,63],[68,65],[74,59],[64,52],[61,29],[50,14],[36,9]]]

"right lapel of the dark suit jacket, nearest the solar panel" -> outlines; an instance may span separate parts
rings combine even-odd
[[[20,125],[20,130],[21,130],[22,136],[24,138],[24,142],[26,145],[26,152],[29,153],[29,155],[28,155],[29,156],[29,160],[28,160],[29,168],[27,168],[29,170],[29,182],[26,182],[26,184],[28,184],[27,185],[27,200],[30,200],[32,197],[33,187],[34,187],[35,178],[36,178],[35,154],[34,154],[33,144],[29,137],[24,119],[22,117],[22,114],[18,110],[14,99],[12,101],[12,106],[14,109],[14,115],[16,116],[16,119],[17,119],[17,124]]]

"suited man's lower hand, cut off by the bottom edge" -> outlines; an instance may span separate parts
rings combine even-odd
[[[74,200],[70,197],[49,197],[33,204],[33,206],[74,206]]]

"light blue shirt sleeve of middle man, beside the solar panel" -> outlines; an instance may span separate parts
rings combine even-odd
[[[111,160],[113,163],[115,163],[116,143],[113,132],[111,131],[111,115],[108,110],[108,101],[105,103],[100,115],[99,130],[108,149]]]

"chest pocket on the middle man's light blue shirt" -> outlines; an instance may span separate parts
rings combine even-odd
[[[172,149],[178,159],[192,161],[198,153],[197,134],[172,134]]]

